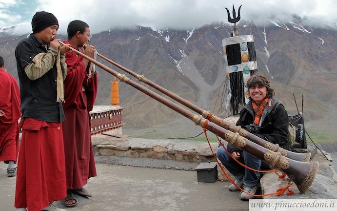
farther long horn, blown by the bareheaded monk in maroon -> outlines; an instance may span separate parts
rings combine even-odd
[[[85,47],[85,44],[84,46]],[[221,119],[220,117],[216,116],[215,114],[213,114],[210,111],[206,111],[203,110],[202,108],[198,107],[197,105],[192,104],[191,102],[179,97],[178,95],[170,92],[169,90],[161,87],[160,85],[148,80],[147,78],[145,78],[143,75],[139,75],[135,72],[133,72],[132,70],[129,70],[128,68],[120,65],[119,63],[116,63],[108,58],[106,58],[105,56],[97,53],[97,55],[99,57],[101,57],[102,59],[106,60],[109,63],[114,64],[115,66],[119,67],[120,69],[124,70],[125,72],[129,73],[130,75],[136,77],[139,81],[144,82],[145,84],[148,84],[150,86],[152,86],[153,88],[159,90],[160,92],[166,94],[167,96],[169,96],[170,98],[178,101],[179,103],[181,103],[182,105],[185,105],[186,107],[194,110],[195,112],[197,112],[198,114],[201,114],[204,118],[208,119],[209,121],[217,124],[220,127],[223,127],[225,129],[229,129],[233,132],[238,132],[241,136],[247,138],[248,140],[264,147],[264,148],[268,148],[272,151],[279,151],[281,152],[281,155],[284,155],[290,159],[293,160],[297,160],[297,161],[303,161],[303,162],[308,162],[310,160],[311,157],[311,152],[306,152],[306,153],[297,153],[297,152],[292,152],[292,151],[288,151],[286,149],[280,148],[278,146],[278,144],[273,144],[270,143],[256,135],[254,135],[253,133],[248,132],[247,130],[241,128],[240,126],[235,126],[229,122],[224,121],[223,119]]]

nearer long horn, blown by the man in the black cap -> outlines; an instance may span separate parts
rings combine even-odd
[[[171,101],[165,99],[164,97],[161,97],[159,94],[130,80],[125,75],[122,75],[116,72],[115,70],[107,67],[106,65],[99,63],[98,61],[86,56],[85,54],[79,52],[78,50],[72,47],[69,48],[75,51],[81,57],[87,59],[92,63],[95,63],[100,68],[116,76],[117,78],[119,78],[121,82],[125,82],[126,84],[132,85],[139,91],[147,94],[153,99],[159,101],[160,103],[172,108],[181,115],[192,120],[193,122],[195,122],[196,125],[207,128],[209,131],[217,134],[219,137],[223,138],[225,141],[236,146],[237,148],[241,148],[242,150],[245,150],[248,153],[258,157],[265,163],[269,164],[272,169],[276,168],[284,172],[290,180],[294,181],[294,183],[297,185],[298,190],[301,193],[304,193],[306,190],[308,190],[312,182],[314,181],[319,165],[317,161],[311,163],[295,161],[290,158],[284,157],[283,155],[281,155],[279,151],[274,152],[267,148],[261,147],[258,144],[255,144],[254,142],[251,142],[246,138],[240,136],[238,133],[234,133],[223,127],[220,127],[204,119],[201,115],[200,116],[195,115],[192,112],[186,110],[185,108],[182,108],[181,106],[172,103]]]

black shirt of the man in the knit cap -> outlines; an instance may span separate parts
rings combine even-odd
[[[53,123],[63,122],[65,117],[62,104],[56,102],[56,65],[54,64],[47,73],[34,81],[30,80],[24,71],[24,67],[33,63],[33,58],[39,53],[47,53],[47,49],[33,34],[21,40],[15,49],[22,118],[28,117]]]

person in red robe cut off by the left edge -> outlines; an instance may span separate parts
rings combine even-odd
[[[0,57],[0,161],[8,163],[7,176],[16,175],[19,147],[18,120],[21,117],[20,89],[13,76],[4,68]]]

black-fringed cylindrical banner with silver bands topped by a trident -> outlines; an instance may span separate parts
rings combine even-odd
[[[242,6],[242,5],[241,5]],[[233,18],[227,10],[228,21],[234,23],[230,38],[222,40],[224,62],[226,65],[226,78],[224,83],[224,95],[221,106],[227,113],[238,114],[240,110],[249,102],[245,92],[248,90],[245,84],[249,77],[255,74],[258,70],[256,59],[256,52],[254,46],[253,35],[238,34],[237,22],[240,20],[240,9],[238,9],[238,16],[233,5]],[[221,109],[220,110],[224,110]]]

